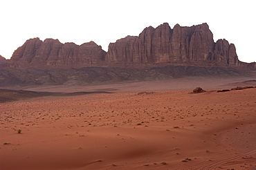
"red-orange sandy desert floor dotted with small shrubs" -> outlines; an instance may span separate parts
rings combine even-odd
[[[0,169],[255,169],[256,88],[192,81],[30,87],[113,93],[0,104]]]

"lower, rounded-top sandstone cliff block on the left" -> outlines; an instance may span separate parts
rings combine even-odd
[[[33,66],[67,66],[97,64],[104,61],[106,52],[93,41],[77,46],[74,43],[60,43],[57,39],[28,39],[13,53],[11,61]]]

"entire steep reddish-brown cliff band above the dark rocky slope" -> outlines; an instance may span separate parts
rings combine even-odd
[[[140,35],[127,36],[109,44],[106,53],[93,41],[78,46],[57,39],[28,39],[17,48],[10,67],[82,68],[85,66],[154,66],[154,64],[192,66],[250,66],[239,62],[234,44],[226,39],[214,42],[207,23],[170,28],[163,23],[149,26]]]

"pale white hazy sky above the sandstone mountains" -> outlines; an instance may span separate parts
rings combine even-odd
[[[242,62],[256,62],[254,0],[0,0],[0,55],[10,58],[27,39],[109,43],[167,22],[173,28],[208,23],[214,41],[235,44]]]

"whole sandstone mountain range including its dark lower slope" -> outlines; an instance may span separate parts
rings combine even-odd
[[[78,46],[57,39],[28,39],[11,59],[0,57],[0,86],[230,77],[255,68],[255,62],[239,61],[234,44],[226,39],[214,42],[207,23],[176,24],[173,29],[163,23],[109,44],[108,52],[93,41]]]

